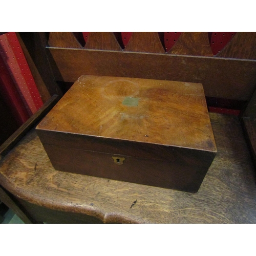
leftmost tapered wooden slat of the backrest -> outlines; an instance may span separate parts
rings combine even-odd
[[[48,44],[51,47],[82,48],[73,32],[50,32]]]

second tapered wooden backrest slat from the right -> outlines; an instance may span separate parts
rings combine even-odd
[[[169,54],[214,56],[207,32],[182,32]]]

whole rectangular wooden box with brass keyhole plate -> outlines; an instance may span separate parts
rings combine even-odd
[[[200,83],[84,75],[36,130],[57,170],[194,193],[216,154]]]

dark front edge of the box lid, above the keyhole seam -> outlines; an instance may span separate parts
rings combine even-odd
[[[45,130],[37,130],[37,134],[44,145],[49,144],[107,154],[120,154],[205,168],[211,165],[215,157],[215,152],[196,150],[194,148],[173,147]],[[210,141],[205,141],[205,143],[210,143]]]

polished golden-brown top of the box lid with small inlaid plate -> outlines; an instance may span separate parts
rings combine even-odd
[[[201,83],[83,75],[37,130],[216,152]]]

